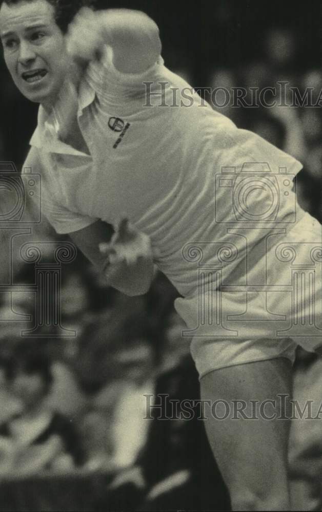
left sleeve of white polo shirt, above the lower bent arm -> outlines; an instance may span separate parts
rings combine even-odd
[[[48,219],[58,234],[78,231],[96,222],[96,218],[73,212],[55,201],[52,187],[46,176],[46,169],[44,169],[37,148],[31,147],[24,168],[29,168],[32,174],[38,177],[39,186],[33,196],[33,201],[37,206],[40,204],[41,216],[44,215]]]

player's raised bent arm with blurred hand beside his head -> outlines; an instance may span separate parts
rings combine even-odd
[[[87,63],[102,53],[104,45],[113,50],[113,64],[122,73],[144,72],[161,51],[158,28],[143,12],[81,9],[69,27],[69,53]]]

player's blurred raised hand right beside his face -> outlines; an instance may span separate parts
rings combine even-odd
[[[105,41],[98,16],[92,9],[83,7],[69,26],[67,51],[81,66],[102,56]]]

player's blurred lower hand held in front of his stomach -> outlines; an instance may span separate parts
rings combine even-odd
[[[99,244],[99,250],[109,258],[110,264],[125,262],[133,265],[138,258],[152,259],[152,247],[149,237],[122,218],[109,244]]]

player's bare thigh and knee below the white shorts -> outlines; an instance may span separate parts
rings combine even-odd
[[[267,404],[264,414],[280,414],[283,403],[278,394],[291,397],[291,363],[285,358],[249,362],[222,368],[206,374],[200,382],[204,400],[225,400],[231,414],[223,411],[206,414],[206,431],[214,456],[228,486],[233,510],[290,510],[288,489],[287,449],[289,420],[232,420],[232,400],[276,400],[276,408]],[[218,403],[219,405],[219,403]],[[247,407],[244,413],[252,416]],[[254,414],[253,414],[254,415]],[[236,414],[235,414],[236,416]],[[241,415],[240,415],[241,416]],[[238,416],[237,416],[238,417]]]

